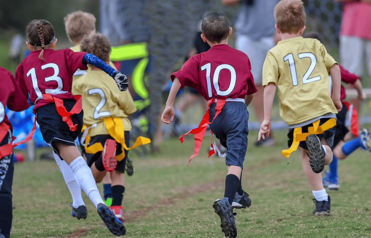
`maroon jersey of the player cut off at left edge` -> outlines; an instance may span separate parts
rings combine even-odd
[[[16,84],[12,73],[0,67],[0,124],[5,123],[12,130],[12,124],[5,114],[6,105],[13,111],[23,111],[30,107],[27,98],[24,97]],[[0,138],[0,141],[2,139]]]

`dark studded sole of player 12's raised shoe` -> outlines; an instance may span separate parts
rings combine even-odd
[[[306,137],[306,145],[309,150],[309,164],[313,172],[321,173],[325,167],[325,156],[321,150],[321,142],[316,134],[311,134]]]

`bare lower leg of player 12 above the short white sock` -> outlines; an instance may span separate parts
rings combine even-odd
[[[309,153],[308,150],[305,150],[301,147],[298,148],[300,153],[300,159],[303,166],[303,171],[305,173],[305,176],[308,179],[309,184],[312,187],[313,191],[318,191],[324,189],[324,186],[322,184],[322,175],[321,173],[315,173],[312,170],[311,165],[309,164],[309,157],[307,153]]]

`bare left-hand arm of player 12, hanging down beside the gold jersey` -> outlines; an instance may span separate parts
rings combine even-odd
[[[266,136],[269,136],[270,133],[270,115],[272,114],[272,107],[273,107],[273,99],[275,98],[276,94],[276,84],[274,82],[270,82],[268,85],[264,87],[264,96],[263,96],[263,104],[264,104],[264,121],[262,125],[260,125],[260,130],[257,139],[260,138],[265,139]]]

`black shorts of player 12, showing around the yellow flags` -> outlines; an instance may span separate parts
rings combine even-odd
[[[319,125],[324,124],[326,121],[328,121],[331,118],[321,118],[319,120]],[[313,126],[313,123],[305,125],[302,127],[302,133],[307,133],[308,132],[308,127]],[[290,148],[292,141],[293,141],[293,133],[294,129],[289,129],[289,133],[287,134],[287,137],[289,137],[289,140],[287,141],[287,145]],[[334,149],[334,136],[335,136],[335,127],[329,128],[328,130],[324,131],[322,134],[317,134],[319,140],[322,138],[325,138],[327,141],[327,144],[331,149]],[[308,150],[308,147],[306,146],[306,141],[300,141],[299,142],[299,147],[302,147],[305,150]]]

